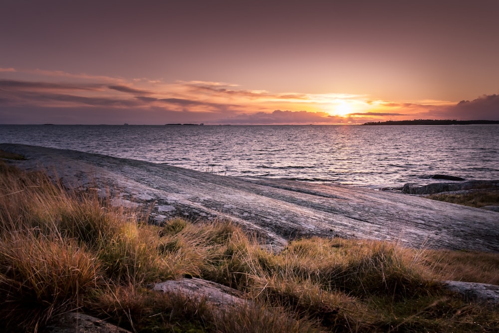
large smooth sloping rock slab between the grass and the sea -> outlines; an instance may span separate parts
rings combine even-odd
[[[46,169],[68,186],[98,187],[117,204],[154,205],[156,221],[227,218],[277,247],[304,236],[396,241],[415,248],[499,252],[499,214],[338,184],[239,178],[165,164],[19,144],[25,170]]]

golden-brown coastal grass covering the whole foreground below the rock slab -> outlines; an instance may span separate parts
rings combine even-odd
[[[12,158],[12,156],[2,156]],[[0,330],[34,332],[86,313],[134,332],[497,332],[497,308],[440,281],[499,284],[499,255],[341,238],[281,251],[230,221],[148,223],[95,189],[68,190],[0,160]],[[152,291],[197,277],[246,306]]]

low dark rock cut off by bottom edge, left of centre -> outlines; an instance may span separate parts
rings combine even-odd
[[[54,317],[41,333],[131,333],[98,318],[79,313],[65,313]]]

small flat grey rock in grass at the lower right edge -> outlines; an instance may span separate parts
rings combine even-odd
[[[499,304],[499,286],[461,281],[444,281],[444,285],[461,295],[466,302]]]

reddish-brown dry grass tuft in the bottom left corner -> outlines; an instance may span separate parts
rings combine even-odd
[[[36,230],[2,236],[0,314],[7,322],[3,324],[37,327],[53,314],[78,309],[80,298],[101,283],[100,264],[73,240],[47,238]]]

